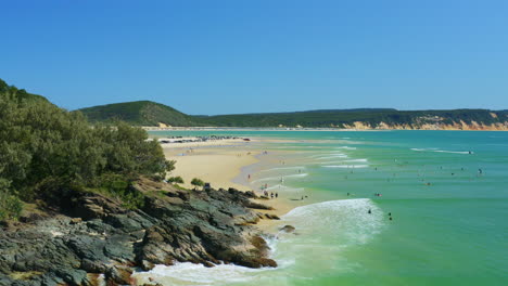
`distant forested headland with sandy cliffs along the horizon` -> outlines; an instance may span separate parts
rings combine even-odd
[[[138,126],[366,128],[366,129],[508,129],[506,110],[397,110],[393,108],[323,109],[294,113],[191,116],[153,102],[129,102],[80,109],[92,121],[115,118]]]

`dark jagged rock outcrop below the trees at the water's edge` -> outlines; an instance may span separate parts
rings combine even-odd
[[[251,226],[268,209],[237,190],[192,192],[151,181],[135,185],[144,207],[76,192],[58,212],[0,229],[0,285],[107,285],[135,283],[132,268],[177,261],[276,266]],[[154,190],[154,191],[152,191]],[[254,195],[255,196],[255,195]]]

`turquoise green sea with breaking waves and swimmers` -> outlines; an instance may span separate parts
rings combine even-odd
[[[508,132],[153,132],[212,133],[278,140],[250,143],[269,154],[238,180],[295,206],[268,238],[280,266],[181,263],[152,270],[157,282],[508,285]]]

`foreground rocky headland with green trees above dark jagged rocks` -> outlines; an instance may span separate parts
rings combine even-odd
[[[141,128],[92,125],[0,81],[0,285],[134,285],[134,269],[176,262],[277,266],[251,226],[267,218],[253,192],[187,190],[164,181],[174,168]]]

